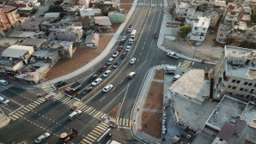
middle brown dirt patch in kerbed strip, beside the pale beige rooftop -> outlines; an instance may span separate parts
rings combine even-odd
[[[163,99],[163,83],[153,81],[151,83],[151,87],[149,90],[147,100],[144,104],[144,108],[161,110],[162,99]]]

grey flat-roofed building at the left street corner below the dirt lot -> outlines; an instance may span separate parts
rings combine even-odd
[[[58,62],[58,51],[38,50],[34,51],[29,64],[20,70],[15,78],[18,81],[39,83],[47,72]]]

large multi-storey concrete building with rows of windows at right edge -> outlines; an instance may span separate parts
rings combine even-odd
[[[256,99],[256,51],[226,45],[213,71],[213,98],[225,94],[244,101]]]

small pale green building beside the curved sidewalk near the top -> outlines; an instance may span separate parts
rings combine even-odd
[[[126,19],[125,10],[108,12],[108,18],[111,23],[123,23]]]

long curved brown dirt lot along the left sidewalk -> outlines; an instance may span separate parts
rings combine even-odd
[[[67,75],[70,72],[81,68],[83,65],[93,60],[94,57],[98,56],[101,51],[106,48],[108,42],[110,41],[110,39],[112,39],[112,37],[112,35],[101,35],[99,48],[97,49],[78,47],[72,59],[58,61],[58,63],[47,73],[46,81],[52,80],[62,75]],[[67,66],[69,66],[69,69],[67,69]]]

